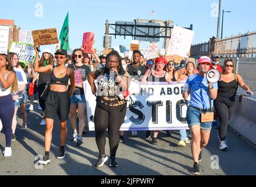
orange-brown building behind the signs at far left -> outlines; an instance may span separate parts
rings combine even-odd
[[[1,26],[9,26],[9,40],[8,40],[8,49],[11,46],[12,41],[19,41],[19,26],[14,25],[14,20],[9,19],[0,19]]]

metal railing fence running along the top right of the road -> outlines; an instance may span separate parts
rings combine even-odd
[[[256,32],[247,32],[225,39],[211,39],[205,43],[192,45],[192,57],[210,56],[217,53],[223,57],[256,57]]]

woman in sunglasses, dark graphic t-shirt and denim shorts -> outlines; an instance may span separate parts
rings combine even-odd
[[[70,123],[73,129],[73,136],[71,141],[77,141],[77,145],[83,144],[82,134],[84,130],[85,110],[86,110],[86,97],[84,96],[83,82],[86,80],[87,75],[90,73],[90,68],[83,64],[84,51],[75,49],[72,54],[73,63],[68,65],[74,71],[76,89],[71,97],[70,105]],[[70,85],[70,82],[69,82]],[[78,108],[78,112],[76,112]],[[76,128],[76,114],[79,119],[79,131]]]

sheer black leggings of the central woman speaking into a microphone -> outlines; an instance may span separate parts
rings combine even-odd
[[[127,104],[120,106],[108,106],[104,103],[97,102],[94,115],[95,139],[100,155],[105,154],[105,134],[108,129],[110,143],[110,156],[115,157],[119,144],[119,130],[124,122]]]

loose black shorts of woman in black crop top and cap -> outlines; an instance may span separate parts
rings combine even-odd
[[[45,117],[55,119],[59,115],[60,122],[69,117],[70,97],[68,92],[49,91],[45,102]]]

